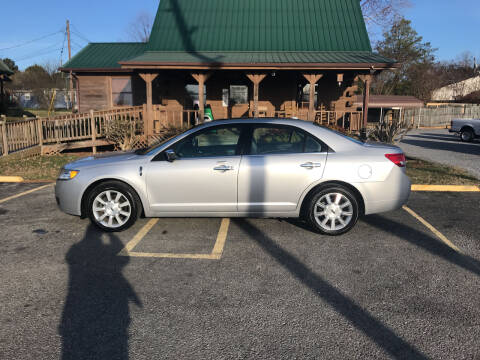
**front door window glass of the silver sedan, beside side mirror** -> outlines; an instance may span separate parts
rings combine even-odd
[[[174,150],[180,158],[233,156],[240,133],[240,127],[207,129],[180,141]]]

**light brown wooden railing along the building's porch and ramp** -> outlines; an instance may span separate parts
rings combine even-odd
[[[108,123],[115,120],[134,121],[139,134],[149,136],[159,135],[165,126],[188,129],[200,120],[197,110],[169,109],[162,105],[154,105],[151,116],[148,113],[144,105],[8,123],[3,121],[0,122],[0,153],[6,155],[36,145],[51,147],[56,144],[77,143],[77,147],[100,146],[98,143],[101,139],[106,143]],[[276,111],[275,116],[296,116],[306,120],[308,110],[299,109],[296,113]],[[362,112],[316,111],[315,121],[326,126],[357,131],[361,127]]]

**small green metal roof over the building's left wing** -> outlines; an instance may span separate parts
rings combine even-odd
[[[145,43],[91,43],[68,61],[63,69],[120,69],[121,60],[143,54]]]

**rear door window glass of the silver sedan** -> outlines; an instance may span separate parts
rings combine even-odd
[[[252,134],[252,155],[303,153],[305,135],[293,128],[259,127]]]

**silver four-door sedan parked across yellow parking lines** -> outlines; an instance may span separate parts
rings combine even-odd
[[[129,153],[66,165],[60,208],[121,231],[138,217],[298,218],[343,234],[359,216],[398,209],[410,195],[396,146],[362,143],[311,122],[211,122]]]

